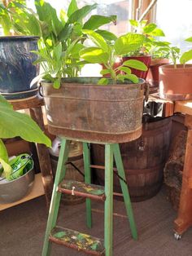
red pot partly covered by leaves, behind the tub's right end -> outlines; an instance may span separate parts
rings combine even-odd
[[[143,56],[130,56],[130,57],[123,57],[123,62],[125,60],[140,60],[144,64],[146,64],[146,67],[148,68],[146,71],[137,70],[135,68],[131,68],[131,72],[136,75],[137,77],[140,77],[142,79],[146,79],[147,73],[149,71],[149,67],[151,64],[151,56],[149,55],[143,55]]]

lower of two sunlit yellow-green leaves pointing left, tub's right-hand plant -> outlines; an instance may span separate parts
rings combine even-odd
[[[89,63],[103,64],[107,63],[109,55],[107,52],[103,51],[98,47],[89,47],[80,51],[80,56],[82,59],[89,61]]]

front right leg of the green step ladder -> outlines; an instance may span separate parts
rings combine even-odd
[[[104,214],[104,245],[106,256],[112,256],[113,235],[113,148],[105,145],[105,214]]]

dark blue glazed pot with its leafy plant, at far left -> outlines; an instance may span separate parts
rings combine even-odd
[[[24,4],[24,1],[10,2],[7,7],[0,4],[0,24],[5,34],[0,37],[0,92],[7,99],[24,99],[37,95],[37,84],[30,86],[30,83],[39,73],[38,65],[33,65],[37,55],[32,52],[37,51],[39,33],[33,20],[28,19],[24,11],[20,11],[18,6],[21,3]],[[28,21],[26,25],[33,28],[33,35],[23,33],[20,20],[24,20],[23,26],[25,20]],[[12,36],[11,31],[22,36]]]

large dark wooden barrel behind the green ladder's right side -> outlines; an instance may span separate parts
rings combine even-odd
[[[121,143],[124,170],[132,201],[144,201],[155,196],[163,183],[164,164],[168,157],[171,118],[142,125],[142,136],[129,143]],[[94,165],[104,164],[104,148],[92,144]],[[103,170],[95,170],[98,183],[104,183]],[[121,192],[119,178],[114,175],[114,191]]]

